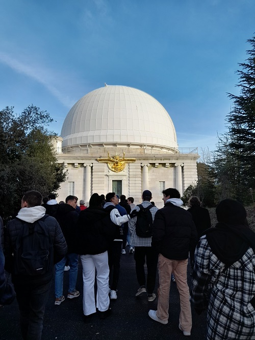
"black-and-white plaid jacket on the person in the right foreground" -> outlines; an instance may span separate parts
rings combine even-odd
[[[222,263],[202,236],[195,252],[192,275],[194,307],[207,311],[207,339],[255,339],[255,255],[248,248],[224,272]]]

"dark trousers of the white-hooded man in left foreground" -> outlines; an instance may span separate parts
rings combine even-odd
[[[51,281],[35,286],[14,283],[20,313],[20,328],[25,340],[41,339],[43,315],[50,283]]]

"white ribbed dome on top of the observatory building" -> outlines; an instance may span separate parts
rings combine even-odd
[[[61,131],[63,147],[118,143],[177,148],[172,120],[151,95],[127,86],[100,87],[73,105]]]

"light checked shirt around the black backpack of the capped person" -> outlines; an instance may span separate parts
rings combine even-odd
[[[149,201],[142,201],[141,205],[146,208],[150,205]],[[138,206],[134,207],[131,212],[136,209],[137,211],[140,210],[140,208]],[[152,221],[154,221],[154,217],[156,212],[159,209],[157,207],[152,207],[149,209],[151,216],[152,216]],[[151,237],[139,237],[136,234],[136,220],[137,217],[131,218],[131,220],[129,220],[129,229],[131,232],[131,245],[133,245],[134,247],[151,247]]]

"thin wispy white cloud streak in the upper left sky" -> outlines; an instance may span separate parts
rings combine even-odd
[[[58,77],[53,76],[53,70],[42,68],[41,66],[38,67],[29,65],[3,52],[0,52],[0,62],[8,65],[14,71],[30,77],[42,84],[64,106],[70,108],[73,105],[73,102],[68,98],[68,96],[63,95],[62,91],[58,90],[58,88],[53,85],[52,80],[58,79]]]

